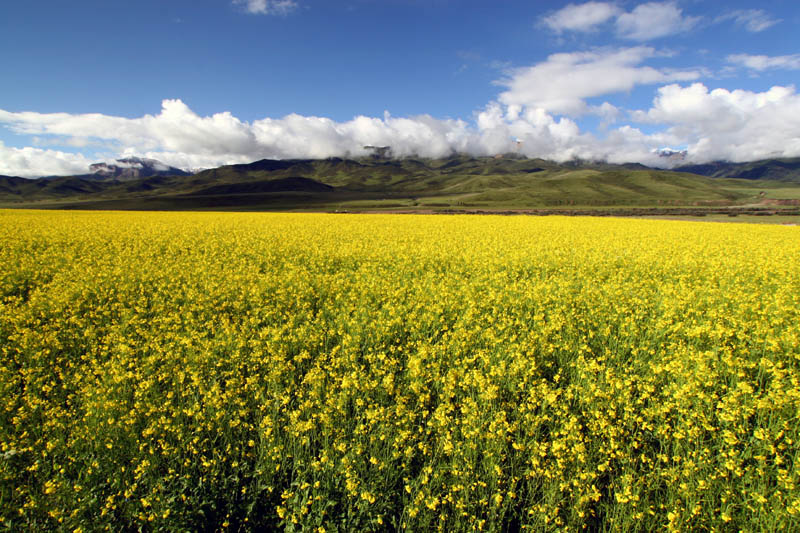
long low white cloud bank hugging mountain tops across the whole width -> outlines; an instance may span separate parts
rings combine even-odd
[[[623,113],[611,104],[597,106],[596,112],[611,119]],[[793,87],[754,93],[709,90],[700,83],[671,84],[658,89],[651,109],[629,118],[657,131],[644,133],[635,125],[623,124],[598,137],[544,107],[501,101],[490,102],[478,112],[474,125],[428,115],[396,118],[388,113],[346,122],[292,114],[248,123],[229,113],[198,116],[180,100],[165,100],[158,115],[133,119],[0,111],[0,123],[35,133],[40,142],[50,135],[59,142],[64,136],[79,135],[117,146],[113,154],[90,159],[0,144],[0,174],[80,174],[92,162],[130,155],[184,169],[210,168],[262,158],[360,156],[367,153],[365,145],[391,146],[400,157],[519,150],[554,161],[581,158],[654,166],[671,163],[655,153],[664,146],[687,147],[689,160],[695,162],[800,156],[800,95]]]

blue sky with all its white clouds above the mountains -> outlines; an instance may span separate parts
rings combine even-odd
[[[0,5],[0,174],[123,155],[800,156],[796,1]],[[520,141],[517,144],[516,141]]]

